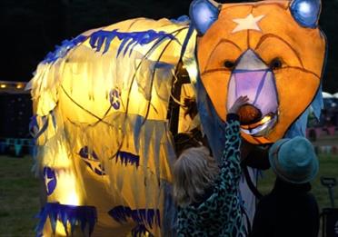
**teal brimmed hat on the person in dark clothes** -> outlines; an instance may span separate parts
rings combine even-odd
[[[319,168],[312,143],[301,136],[274,143],[269,150],[269,161],[273,172],[289,183],[310,182]]]

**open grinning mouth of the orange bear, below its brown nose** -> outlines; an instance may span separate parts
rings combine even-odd
[[[251,136],[264,136],[271,131],[278,120],[277,113],[266,114],[260,121],[241,125],[241,130]]]

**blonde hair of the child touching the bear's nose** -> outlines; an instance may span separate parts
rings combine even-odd
[[[205,146],[186,149],[174,163],[174,200],[180,206],[199,202],[213,185],[219,167]]]

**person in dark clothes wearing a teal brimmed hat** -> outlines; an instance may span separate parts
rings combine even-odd
[[[250,237],[317,237],[318,204],[310,182],[318,173],[313,145],[305,138],[282,139],[269,150],[277,178],[258,203]]]

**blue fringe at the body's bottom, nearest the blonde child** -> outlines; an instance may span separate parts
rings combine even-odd
[[[154,224],[161,227],[160,211],[158,209],[132,210],[126,206],[116,206],[110,210],[108,214],[114,219],[114,221],[119,223],[127,222],[127,218],[131,218],[134,222],[136,222],[137,225],[132,231],[133,236],[141,236],[142,234],[145,234],[145,232],[148,232],[145,228],[145,224],[147,224],[150,228],[153,228]]]

